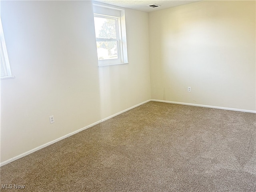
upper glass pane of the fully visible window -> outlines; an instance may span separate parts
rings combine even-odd
[[[96,38],[116,39],[116,19],[94,17]]]

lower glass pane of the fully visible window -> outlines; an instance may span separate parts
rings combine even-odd
[[[97,41],[98,60],[118,59],[117,41]]]

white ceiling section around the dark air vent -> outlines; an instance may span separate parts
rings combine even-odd
[[[110,5],[144,11],[144,12],[152,12],[156,10],[198,2],[200,0],[96,0],[96,1],[110,4]],[[156,8],[152,8],[148,6],[152,4],[157,4],[160,6]]]

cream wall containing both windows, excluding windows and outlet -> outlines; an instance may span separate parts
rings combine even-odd
[[[129,64],[99,68],[90,1],[1,1],[1,162],[150,99],[148,14],[125,11]]]

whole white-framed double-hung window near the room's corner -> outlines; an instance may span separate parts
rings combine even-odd
[[[124,10],[94,4],[98,65],[127,63]]]

